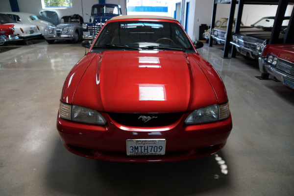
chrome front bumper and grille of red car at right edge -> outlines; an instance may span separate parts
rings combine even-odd
[[[277,80],[283,82],[286,86],[294,89],[294,76],[278,70],[276,67],[270,65],[264,58],[258,58],[259,70],[261,73],[270,73]],[[289,84],[291,83],[291,84]]]

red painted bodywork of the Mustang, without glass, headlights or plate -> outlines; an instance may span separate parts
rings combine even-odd
[[[167,19],[113,18],[103,28],[123,21],[162,21],[180,26]],[[220,75],[194,47],[194,52],[188,53],[160,49],[94,53],[93,49],[92,45],[69,73],[61,101],[96,110],[107,123],[78,123],[58,114],[57,129],[69,151],[107,161],[164,162],[210,155],[225,145],[232,129],[231,115],[213,123],[185,123],[194,110],[228,101]],[[130,114],[169,114],[176,118],[163,125],[136,126],[116,117]],[[165,139],[165,155],[128,156],[128,139]]]

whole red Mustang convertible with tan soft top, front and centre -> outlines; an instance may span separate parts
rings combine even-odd
[[[92,45],[91,45],[92,44]],[[108,20],[68,74],[57,129],[74,154],[164,162],[219,151],[232,129],[216,70],[170,17]]]

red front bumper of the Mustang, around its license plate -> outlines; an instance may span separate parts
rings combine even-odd
[[[217,123],[185,125],[183,119],[164,127],[126,127],[103,114],[105,126],[74,123],[59,117],[57,129],[63,145],[74,154],[107,161],[165,162],[193,159],[219,151],[232,129],[231,116]],[[127,139],[166,139],[165,155],[128,156]]]

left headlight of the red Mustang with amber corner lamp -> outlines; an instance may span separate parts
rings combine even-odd
[[[60,101],[59,115],[63,119],[80,123],[106,124],[106,120],[96,110]]]

